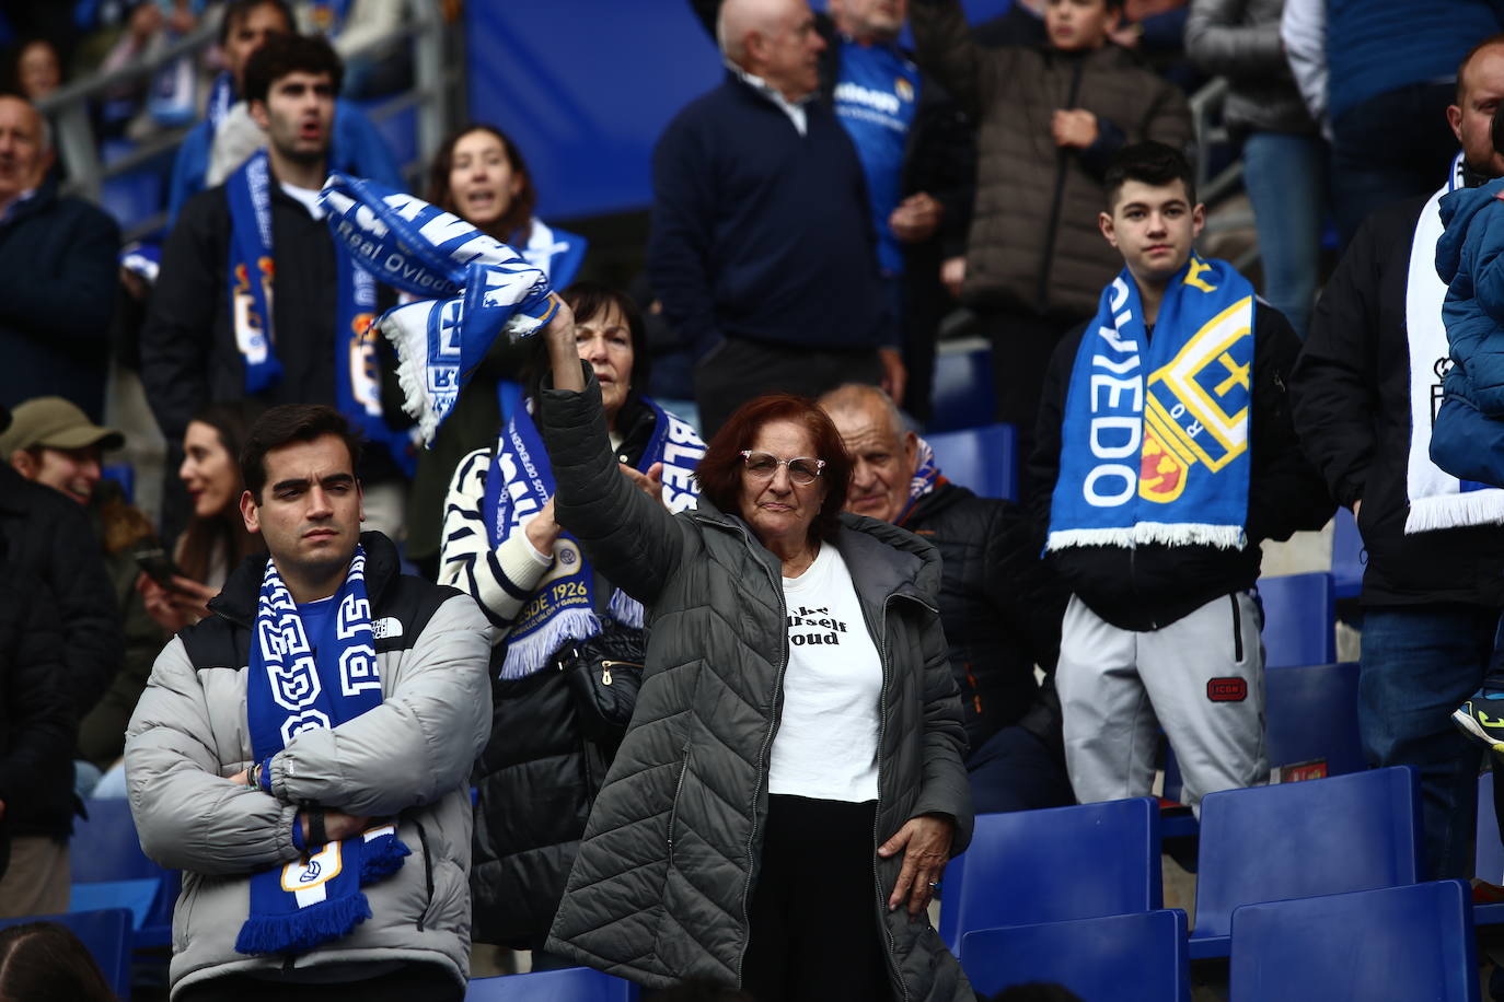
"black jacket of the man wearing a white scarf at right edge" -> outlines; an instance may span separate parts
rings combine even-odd
[[[1498,608],[1504,607],[1498,526],[1405,535],[1411,367],[1435,371],[1442,362],[1412,359],[1405,324],[1411,243],[1427,200],[1376,210],[1348,245],[1316,302],[1310,337],[1290,376],[1295,427],[1337,503],[1363,502],[1364,605]]]

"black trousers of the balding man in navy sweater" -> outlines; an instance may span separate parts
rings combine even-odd
[[[842,383],[881,380],[877,349],[835,352],[726,338],[695,365],[699,433],[708,442],[737,407],[764,394],[818,397]]]

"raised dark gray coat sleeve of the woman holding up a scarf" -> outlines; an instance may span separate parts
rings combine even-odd
[[[549,449],[553,517],[585,548],[596,569],[644,605],[651,605],[695,545],[695,533],[638,490],[618,469],[600,407],[600,383],[588,364],[585,391],[541,394],[538,428]]]

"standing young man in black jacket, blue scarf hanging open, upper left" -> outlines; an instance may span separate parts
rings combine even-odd
[[[250,56],[245,99],[266,149],[183,206],[141,330],[141,382],[168,442],[212,400],[337,407],[382,446],[361,476],[373,524],[396,535],[411,442],[382,412],[370,326],[382,303],[317,201],[343,72],[328,42],[301,35],[274,33]]]

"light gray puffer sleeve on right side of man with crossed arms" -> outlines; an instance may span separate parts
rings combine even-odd
[[[272,793],[388,817],[462,786],[490,733],[490,629],[468,595],[439,605],[381,706],[272,756]]]

